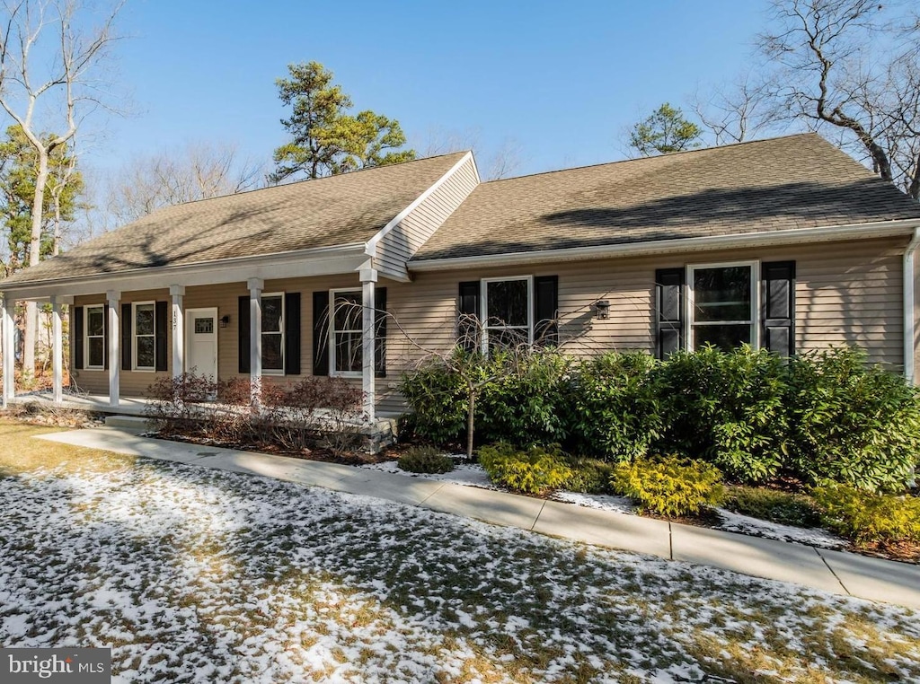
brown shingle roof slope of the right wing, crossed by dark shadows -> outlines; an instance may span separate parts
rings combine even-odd
[[[480,184],[412,261],[920,218],[816,133]]]

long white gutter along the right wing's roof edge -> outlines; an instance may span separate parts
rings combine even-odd
[[[443,259],[409,260],[410,271],[450,270],[455,268],[483,268],[490,266],[511,266],[514,264],[558,263],[580,259],[605,257],[638,257],[643,255],[689,252],[695,250],[732,249],[766,245],[793,245],[819,241],[865,239],[914,234],[916,219],[882,221],[873,223],[850,223],[845,225],[819,226],[817,228],[792,228],[782,231],[765,231],[741,235],[707,235],[684,237],[674,240],[655,240],[621,245],[592,245],[563,249],[544,249],[531,252],[510,252],[478,257],[453,257]]]

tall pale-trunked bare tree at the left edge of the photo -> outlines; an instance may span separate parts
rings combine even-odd
[[[70,143],[86,114],[101,104],[96,72],[112,42],[117,2],[95,27],[80,0],[4,0],[0,26],[0,107],[22,128],[38,155],[29,267],[40,259],[48,162]],[[27,302],[23,369],[34,372],[36,305]]]

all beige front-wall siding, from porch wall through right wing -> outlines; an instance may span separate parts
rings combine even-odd
[[[906,240],[890,238],[818,245],[721,250],[682,256],[571,261],[535,268],[482,268],[419,272],[412,282],[381,279],[387,288],[387,377],[376,381],[378,410],[398,413],[400,375],[454,344],[458,283],[482,278],[558,276],[559,333],[563,348],[575,354],[607,349],[654,351],[654,279],[657,268],[684,267],[759,259],[796,262],[796,348],[799,352],[850,344],[866,348],[873,362],[899,368],[903,363],[902,254]],[[266,382],[296,382],[313,369],[313,292],[361,288],[357,274],[279,279],[265,282],[266,292],[301,293],[300,376],[270,377]],[[216,306],[230,324],[218,329],[218,374],[237,377],[237,300],[247,296],[246,282],[188,288],[185,309]],[[594,302],[610,302],[610,317],[598,319]],[[125,292],[122,302],[169,301],[168,292]],[[104,295],[77,298],[76,304],[104,302]],[[170,364],[171,364],[171,340]],[[164,373],[121,371],[121,393],[143,396]],[[243,377],[248,377],[245,374]],[[81,389],[106,394],[107,371],[79,371]],[[361,386],[360,379],[350,379]]]

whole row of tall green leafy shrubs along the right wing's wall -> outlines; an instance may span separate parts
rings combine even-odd
[[[472,391],[480,443],[558,443],[607,462],[676,454],[735,482],[790,473],[867,490],[903,489],[920,462],[920,393],[857,348],[781,359],[710,347],[666,361],[458,350],[401,391],[410,428],[439,444],[464,441]]]

